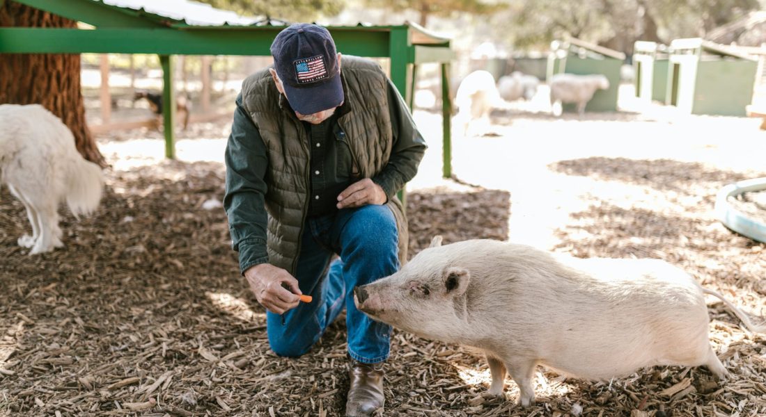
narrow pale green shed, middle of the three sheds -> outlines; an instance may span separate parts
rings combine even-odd
[[[663,44],[648,41],[636,41],[633,45],[633,70],[636,77],[633,85],[636,96],[651,102],[665,102],[667,88],[668,54]]]

